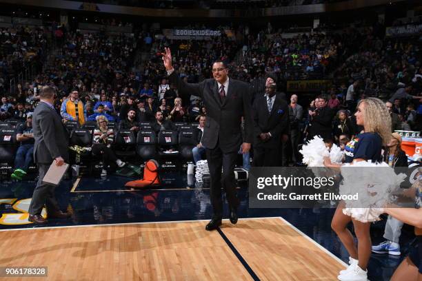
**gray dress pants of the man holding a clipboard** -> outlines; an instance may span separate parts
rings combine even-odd
[[[43,178],[46,176],[48,169],[50,168],[49,164],[38,164],[39,169],[39,179],[37,186],[34,189],[34,194],[32,194],[32,200],[29,207],[29,214],[41,215],[44,204],[46,204],[47,211],[55,212],[59,211],[59,204],[54,196],[54,185],[47,185],[43,183]]]

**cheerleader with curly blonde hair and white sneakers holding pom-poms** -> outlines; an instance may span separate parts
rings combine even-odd
[[[381,147],[387,145],[391,138],[391,118],[384,103],[378,98],[365,98],[358,104],[356,116],[357,125],[363,126],[363,132],[355,136],[345,147],[345,163],[371,160],[381,162]],[[336,167],[341,164],[332,163],[330,157],[324,157],[325,167]],[[352,221],[358,246],[354,244],[352,233],[347,229]],[[368,261],[371,255],[370,222],[361,222],[350,216],[345,209],[345,202],[340,202],[331,222],[332,229],[339,236],[350,254],[348,269],[340,271],[341,281],[368,280]]]

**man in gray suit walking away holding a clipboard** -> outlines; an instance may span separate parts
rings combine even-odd
[[[39,180],[32,194],[29,207],[30,222],[36,224],[46,223],[41,216],[44,204],[46,205],[48,218],[68,218],[70,214],[63,213],[59,209],[54,196],[54,186],[43,183],[51,163],[57,166],[68,162],[69,138],[66,128],[61,123],[61,117],[54,110],[54,94],[56,91],[50,86],[41,89],[40,102],[32,116],[32,129],[34,132],[34,161],[38,165]]]

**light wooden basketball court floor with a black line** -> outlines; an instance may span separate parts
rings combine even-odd
[[[48,267],[12,280],[336,280],[345,264],[281,218],[0,231],[0,267]],[[10,278],[8,278],[10,279]],[[6,280],[6,278],[0,278]]]

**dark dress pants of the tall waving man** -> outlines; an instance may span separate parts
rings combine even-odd
[[[237,160],[237,152],[223,153],[217,144],[214,149],[207,148],[208,168],[210,169],[211,187],[210,199],[214,211],[213,218],[223,218],[223,199],[221,187],[225,191],[230,208],[239,207],[239,199],[236,196],[236,183],[234,180],[234,165]],[[221,173],[223,168],[223,173]]]

